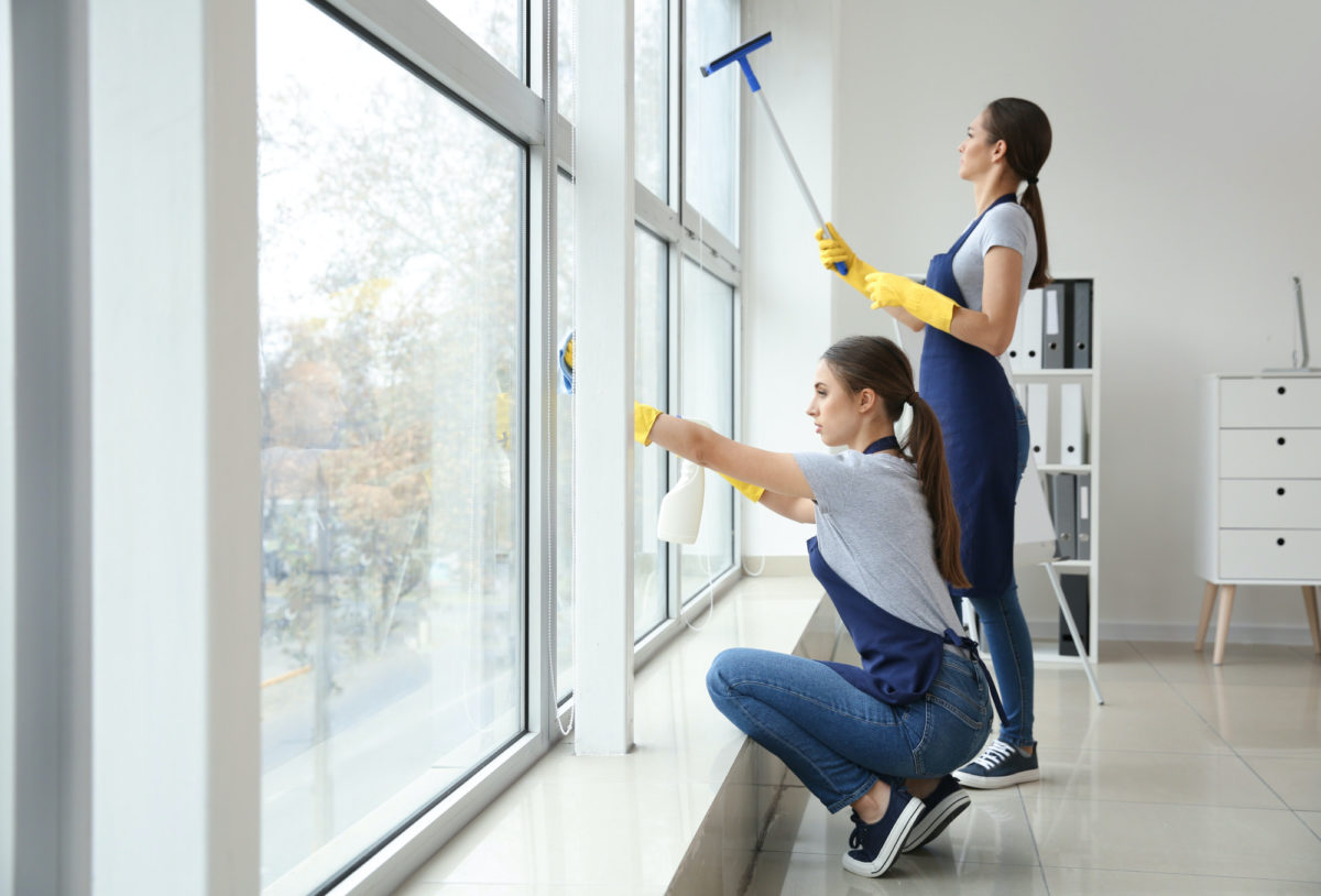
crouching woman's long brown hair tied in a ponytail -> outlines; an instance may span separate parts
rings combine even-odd
[[[885,406],[890,420],[898,420],[904,404],[913,404],[913,426],[904,445],[905,457],[917,464],[931,531],[935,566],[955,588],[968,588],[959,560],[959,515],[950,490],[950,468],[945,464],[945,436],[935,411],[913,386],[913,365],[904,349],[884,336],[849,336],[826,349],[822,355],[835,375],[852,392],[871,389]]]

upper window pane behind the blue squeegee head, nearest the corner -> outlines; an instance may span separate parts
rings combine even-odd
[[[727,66],[709,78],[701,77],[700,67],[741,42],[738,1],[686,1],[684,198],[725,237],[737,242],[738,95],[746,87],[737,65]]]

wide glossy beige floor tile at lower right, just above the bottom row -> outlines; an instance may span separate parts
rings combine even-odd
[[[1316,835],[1288,810],[1029,800],[1044,866],[1321,881]]]

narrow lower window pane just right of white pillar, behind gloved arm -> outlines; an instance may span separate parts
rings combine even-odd
[[[634,381],[633,394],[643,404],[667,406],[668,255],[667,246],[646,230],[634,241]],[[667,616],[667,558],[657,538],[657,511],[666,490],[666,452],[633,447],[633,632],[642,638]]]

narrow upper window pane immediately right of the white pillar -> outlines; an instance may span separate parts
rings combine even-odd
[[[670,201],[670,4],[634,0],[634,177]]]

